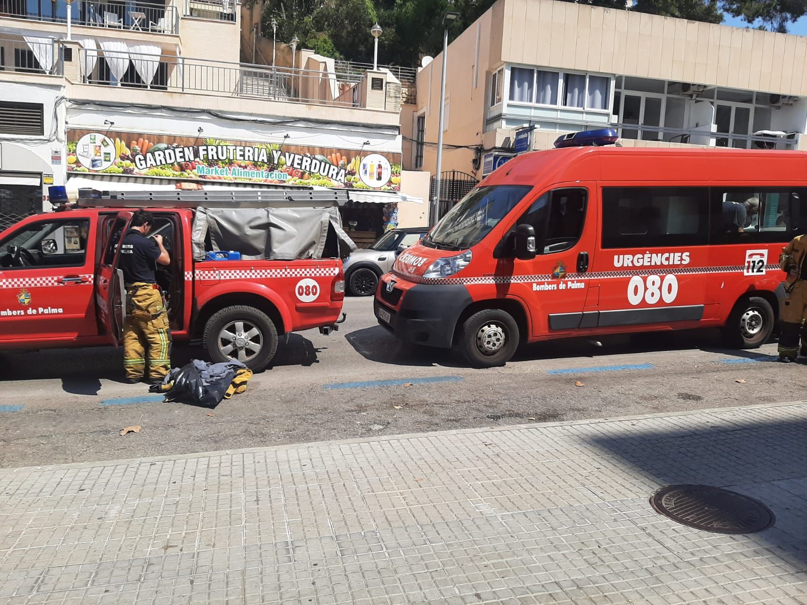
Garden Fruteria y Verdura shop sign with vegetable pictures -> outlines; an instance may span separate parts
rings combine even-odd
[[[399,191],[401,154],[70,129],[68,173]]]

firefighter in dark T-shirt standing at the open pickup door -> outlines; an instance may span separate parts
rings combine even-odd
[[[153,225],[151,212],[136,211],[120,249],[119,268],[127,294],[123,365],[132,384],[143,380],[157,384],[171,369],[168,311],[155,275],[157,264],[169,265],[171,258],[162,236],[148,237]]]

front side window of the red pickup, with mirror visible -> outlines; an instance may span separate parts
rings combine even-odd
[[[0,241],[3,269],[80,267],[85,264],[89,219],[41,220]]]

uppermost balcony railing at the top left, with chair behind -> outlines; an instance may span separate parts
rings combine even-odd
[[[0,16],[65,23],[67,6],[65,2],[51,0],[0,0]],[[158,34],[178,33],[176,8],[151,2],[76,0],[73,2],[70,19],[77,26],[150,31]]]

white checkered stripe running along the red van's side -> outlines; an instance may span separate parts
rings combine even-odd
[[[617,277],[633,277],[634,275],[693,275],[705,273],[742,273],[742,265],[726,265],[721,267],[665,267],[660,269],[633,269],[621,271],[602,271],[598,273],[567,273],[562,279],[592,280],[592,279],[614,279]],[[779,265],[766,265],[767,271],[780,271]],[[521,284],[529,282],[550,282],[558,277],[552,275],[488,275],[482,277],[419,277],[411,273],[402,273],[393,270],[392,274],[402,277],[409,282],[419,284]]]

